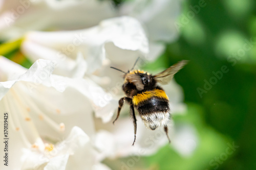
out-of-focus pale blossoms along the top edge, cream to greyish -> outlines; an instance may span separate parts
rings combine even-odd
[[[76,30],[95,26],[102,19],[127,15],[138,19],[144,26],[150,46],[147,59],[154,60],[164,50],[162,42],[177,39],[174,21],[179,13],[180,2],[174,0],[127,1],[120,9],[114,9],[107,1],[96,0],[4,1],[0,13],[0,35],[2,39],[13,39],[30,30]],[[41,15],[44,17],[38,20]]]

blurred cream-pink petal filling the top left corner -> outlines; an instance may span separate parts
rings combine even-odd
[[[30,30],[70,30],[92,27],[100,20],[113,17],[115,14],[108,2],[95,0],[2,0],[0,10],[2,40],[19,38]]]

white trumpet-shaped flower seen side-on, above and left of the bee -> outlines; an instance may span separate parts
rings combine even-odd
[[[136,19],[119,17],[84,30],[28,33],[22,51],[32,61],[56,62],[55,74],[73,77],[72,71],[81,63],[76,62],[78,54],[86,61],[86,73],[92,74],[107,58],[132,64],[133,59],[148,54],[148,42]]]

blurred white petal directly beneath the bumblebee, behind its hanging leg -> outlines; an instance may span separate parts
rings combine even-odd
[[[115,125],[96,122],[100,129],[96,137],[96,147],[100,150],[100,159],[116,158],[131,155],[151,155],[168,142],[163,128],[154,131],[145,128],[141,119],[137,119],[137,134],[134,147],[134,127],[130,117],[119,118]],[[104,130],[101,130],[104,129]],[[173,129],[169,128],[169,136]],[[172,136],[170,136],[172,137]],[[104,140],[102,141],[102,139]]]

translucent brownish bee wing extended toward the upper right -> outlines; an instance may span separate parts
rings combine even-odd
[[[181,68],[183,68],[184,65],[187,64],[187,62],[188,62],[188,60],[182,60],[182,61],[170,66],[166,70],[159,72],[159,74],[156,74],[155,76],[153,76],[153,78],[155,78],[156,81],[161,84],[168,84],[173,79],[174,75]]]

